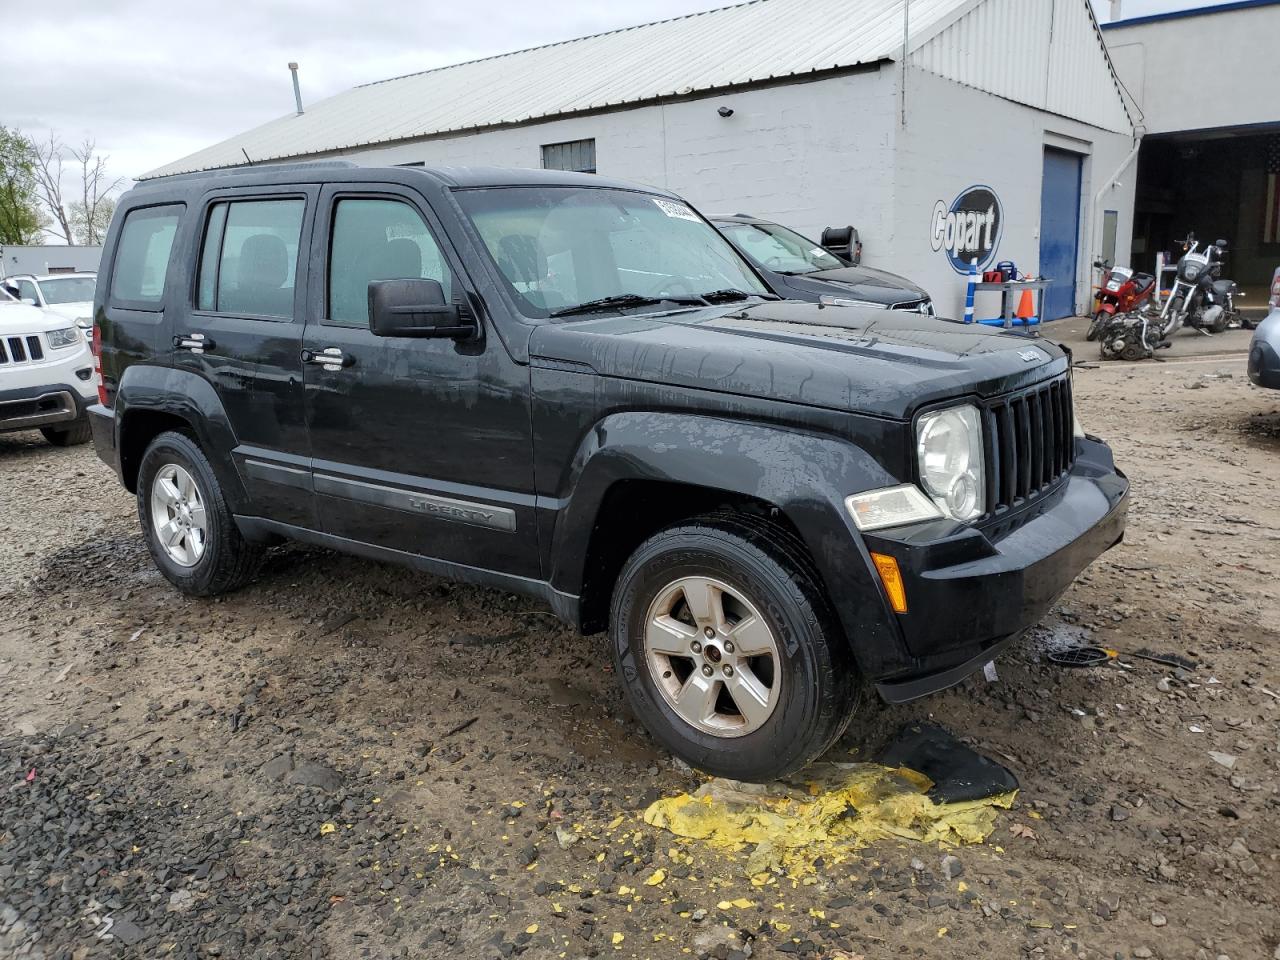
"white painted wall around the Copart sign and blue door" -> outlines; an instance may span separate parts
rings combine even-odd
[[[937,302],[938,312],[961,316],[966,279],[931,243],[933,207],[947,205],[974,184],[991,187],[1000,197],[1005,223],[992,264],[1012,260],[1023,273],[1039,274],[1041,186],[1043,154],[1053,146],[1080,154],[1080,241],[1076,269],[1076,310],[1085,308],[1091,268],[1101,247],[1101,214],[1092,212],[1093,196],[1133,150],[1128,134],[1102,131],[1065,116],[987,96],[972,87],[909,68],[906,124],[896,137],[897,175],[892,260],[897,273],[920,283]],[[1119,177],[1100,210],[1119,214],[1123,250],[1133,223],[1134,170]],[[996,316],[997,294],[979,294],[979,316]]]

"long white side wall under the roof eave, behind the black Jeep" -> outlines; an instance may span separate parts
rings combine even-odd
[[[348,152],[361,164],[541,166],[541,145],[595,140],[600,174],[675,191],[704,214],[777,219],[817,239],[854,224],[891,268],[892,67],[813,83],[640,106]],[[733,115],[717,110],[728,106]]]

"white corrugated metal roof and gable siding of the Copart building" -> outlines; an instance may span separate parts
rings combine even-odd
[[[369,83],[142,179],[238,166],[246,154],[255,163],[315,156],[897,60],[905,8],[916,64],[1019,102],[1126,129],[1119,91],[1112,90],[1106,102],[1102,87],[1115,87],[1114,76],[1087,5],[1088,0],[1059,3],[1066,10],[1055,17],[1047,0],[910,0],[909,8],[905,0],[751,0]],[[1070,54],[1069,63],[1052,70],[1055,84],[1070,90],[1050,95],[1044,64],[1052,65],[1055,56],[1061,60],[1065,54],[1059,49],[1069,45],[1060,36],[1050,50],[1050,24],[1059,29],[1060,19],[1070,24],[1076,45],[1082,29],[1094,36],[1083,38],[1083,52]],[[948,29],[952,26],[957,29]],[[1001,36],[1014,31],[1015,42],[998,56],[975,55],[991,50],[992,31]],[[1089,56],[1093,63],[1078,63]],[[1041,87],[1028,91],[1027,78],[1037,69]],[[1088,83],[1078,84],[1076,69],[1088,73]]]

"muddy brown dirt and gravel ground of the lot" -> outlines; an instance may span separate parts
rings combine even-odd
[[[950,879],[882,841],[753,886],[643,822],[698,777],[602,637],[301,547],[184,599],[90,448],[0,436],[0,956],[1280,957],[1280,394],[1192,352],[1076,372],[1125,543],[833,751],[932,717],[1016,773]],[[1076,637],[1198,666],[1042,662]]]

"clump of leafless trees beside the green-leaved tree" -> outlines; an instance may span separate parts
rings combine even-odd
[[[68,197],[63,189],[64,165],[68,160],[79,164],[79,184]],[[97,152],[92,137],[86,137],[78,147],[68,147],[50,132],[49,141],[36,145],[36,183],[40,197],[52,216],[45,229],[61,237],[68,244],[96,246],[102,242],[111,221],[115,201],[110,196],[124,180],[108,179],[109,157]]]

